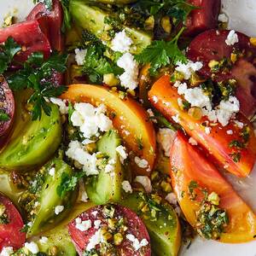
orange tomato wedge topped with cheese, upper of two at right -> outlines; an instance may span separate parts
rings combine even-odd
[[[183,126],[183,129],[190,137],[195,138],[202,147],[206,148],[225,170],[239,177],[247,177],[253,170],[256,160],[256,137],[252,125],[242,114],[238,114],[237,119],[250,128],[249,141],[246,148],[241,148],[241,160],[235,162],[230,155],[233,153],[230,142],[241,139],[241,130],[232,121],[224,127],[218,123],[211,126],[211,133],[207,134],[201,125],[207,118],[196,121],[178,107],[177,98],[180,96],[177,94],[177,89],[172,86],[169,76],[163,76],[156,81],[148,96],[154,107],[163,113],[167,119],[172,120],[172,116],[178,114],[179,124]],[[158,98],[157,102],[154,101],[154,96]],[[232,135],[227,135],[229,130],[233,131]]]

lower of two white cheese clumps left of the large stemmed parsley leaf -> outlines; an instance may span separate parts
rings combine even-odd
[[[137,61],[135,61],[134,56],[130,53],[125,53],[117,61],[118,67],[124,68],[125,73],[119,76],[120,83],[126,89],[134,90],[137,88],[138,84],[138,73],[139,67]]]

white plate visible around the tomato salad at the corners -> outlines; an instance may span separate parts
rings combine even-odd
[[[6,15],[15,14],[19,20],[22,20],[32,9],[32,6],[32,0],[0,0],[0,24]],[[256,0],[223,0],[223,9],[230,18],[230,28],[256,37]],[[253,174],[256,177],[255,168],[254,171]],[[248,192],[247,188],[250,188],[249,194],[256,195],[256,183],[254,183],[255,186],[251,183],[252,180],[248,178],[247,183],[238,190],[256,211],[255,201],[248,199],[248,193],[246,193]],[[244,244],[222,244],[217,241],[203,241],[198,238],[189,249],[183,247],[181,256],[256,256],[256,241]]]

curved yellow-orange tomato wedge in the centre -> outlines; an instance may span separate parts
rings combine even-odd
[[[104,103],[109,111],[115,113],[113,126],[119,131],[123,138],[128,152],[131,156],[131,166],[137,174],[150,175],[155,162],[155,131],[154,125],[148,119],[148,113],[144,108],[126,96],[124,100],[119,97],[119,92],[109,90],[101,85],[72,84],[69,85],[61,99],[69,102],[89,102],[92,105]],[[141,138],[143,148],[138,145],[138,138]],[[148,161],[147,168],[140,168],[134,162],[134,157],[139,156]]]

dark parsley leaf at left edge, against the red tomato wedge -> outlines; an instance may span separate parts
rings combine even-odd
[[[15,42],[14,38],[8,38],[4,44],[0,44],[0,74],[7,70],[20,49],[20,45]]]

